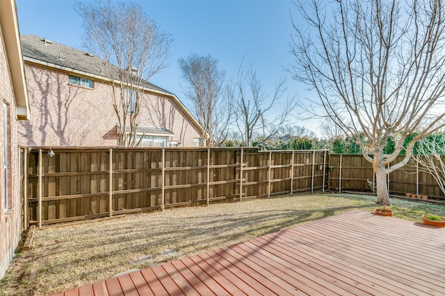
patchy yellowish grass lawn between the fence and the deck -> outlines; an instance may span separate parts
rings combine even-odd
[[[445,207],[392,199],[394,216],[445,216]],[[107,279],[132,268],[191,256],[356,209],[373,211],[366,195],[293,195],[209,207],[136,214],[34,234],[33,248],[16,256],[0,295],[47,295]],[[167,249],[178,251],[163,256]]]

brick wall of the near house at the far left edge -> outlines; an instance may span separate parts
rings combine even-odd
[[[1,32],[1,31],[0,31]],[[15,248],[20,238],[20,192],[19,192],[19,148],[17,145],[17,116],[13,87],[11,85],[10,69],[6,62],[6,54],[3,46],[3,36],[0,36],[0,278],[6,272],[10,260],[13,258]],[[7,141],[8,143],[8,175],[3,170],[5,147],[4,139],[4,117],[3,104],[7,105]],[[6,209],[5,199],[5,178],[8,180],[8,200],[9,205]]]

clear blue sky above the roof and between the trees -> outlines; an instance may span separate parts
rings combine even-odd
[[[178,96],[181,73],[177,59],[197,53],[211,55],[225,70],[226,80],[236,77],[244,58],[252,64],[266,89],[272,94],[275,82],[286,78],[286,96],[311,96],[305,85],[292,80],[283,70],[292,62],[288,42],[293,28],[289,10],[291,1],[134,1],[173,38],[168,69],[156,74],[152,83]],[[81,18],[74,11],[74,1],[17,0],[20,33],[38,35],[54,42],[81,49]],[[293,119],[289,123],[305,125],[316,131],[316,122]]]

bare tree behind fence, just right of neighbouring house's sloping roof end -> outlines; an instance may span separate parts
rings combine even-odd
[[[179,58],[178,63],[186,81],[184,94],[202,127],[201,141],[204,146],[218,146],[227,139],[230,118],[227,100],[221,96],[225,72],[210,55],[193,53]]]

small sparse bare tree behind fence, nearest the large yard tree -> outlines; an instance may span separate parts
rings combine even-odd
[[[254,137],[260,142],[265,142],[280,131],[282,125],[286,123],[295,101],[293,98],[287,99],[282,105],[280,114],[272,120],[273,110],[279,107],[278,103],[286,90],[284,80],[280,80],[275,85],[272,96],[266,94],[261,80],[257,77],[257,72],[250,67],[248,71],[243,69],[243,63],[238,69],[238,77],[227,85],[226,94],[234,113],[234,120],[238,128],[241,140],[245,146],[252,146]]]

